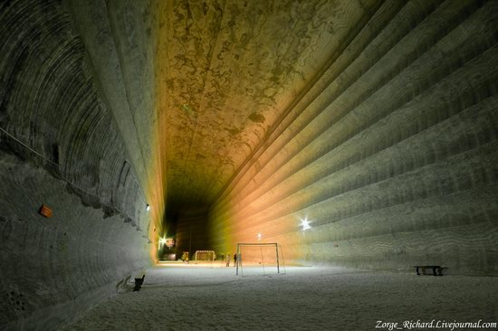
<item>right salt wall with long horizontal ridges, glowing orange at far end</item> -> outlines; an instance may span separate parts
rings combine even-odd
[[[497,18],[495,1],[379,6],[225,186],[213,247],[261,232],[289,263],[498,274]]]

